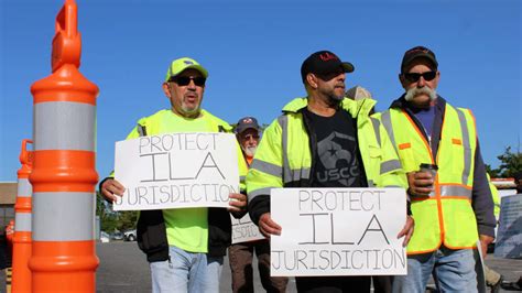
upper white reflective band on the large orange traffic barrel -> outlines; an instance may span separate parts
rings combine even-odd
[[[34,150],[95,151],[96,106],[48,101],[34,105]]]

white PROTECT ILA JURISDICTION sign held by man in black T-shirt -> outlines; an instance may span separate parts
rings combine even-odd
[[[271,275],[406,274],[402,188],[275,188]]]

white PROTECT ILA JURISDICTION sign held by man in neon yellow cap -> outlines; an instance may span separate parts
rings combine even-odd
[[[165,133],[116,143],[115,177],[123,196],[115,210],[228,207],[239,193],[236,138]]]

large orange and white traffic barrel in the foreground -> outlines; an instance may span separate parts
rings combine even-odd
[[[53,74],[33,95],[33,292],[95,292],[95,122],[98,87],[78,70],[77,7],[56,17]]]

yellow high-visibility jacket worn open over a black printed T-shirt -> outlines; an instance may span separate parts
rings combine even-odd
[[[271,188],[302,187],[313,174],[309,135],[303,121],[302,109],[307,98],[296,98],[283,108],[263,133],[254,160],[247,175],[249,200],[270,195]],[[370,187],[405,187],[406,177],[385,130],[369,112],[374,100],[345,98],[341,110],[357,119],[358,143]]]

